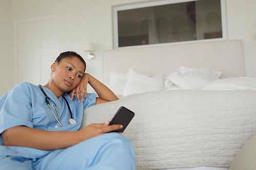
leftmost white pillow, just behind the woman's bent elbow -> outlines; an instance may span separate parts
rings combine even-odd
[[[123,95],[124,87],[127,82],[127,74],[123,72],[111,72],[108,87],[116,95]]]

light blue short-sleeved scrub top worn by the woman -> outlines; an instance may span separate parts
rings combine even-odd
[[[48,131],[77,131],[82,122],[83,109],[94,106],[96,94],[88,93],[83,102],[78,103],[76,96],[73,101],[65,94],[72,116],[77,124],[69,125],[70,112],[62,96],[56,95],[46,87],[42,87],[49,98],[57,106],[62,127],[58,124],[52,111],[45,101],[45,94],[38,86],[24,82],[16,85],[0,99],[0,156],[21,156],[29,159],[39,158],[51,151],[42,151],[26,147],[6,147],[3,145],[2,133],[14,126]],[[52,108],[55,112],[55,109]]]

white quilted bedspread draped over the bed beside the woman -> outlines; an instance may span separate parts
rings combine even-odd
[[[82,127],[111,120],[120,106],[138,169],[229,167],[256,134],[256,91],[173,90],[125,96],[84,109]]]

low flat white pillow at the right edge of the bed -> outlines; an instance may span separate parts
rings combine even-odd
[[[202,90],[256,90],[256,78],[237,77],[211,82]]]

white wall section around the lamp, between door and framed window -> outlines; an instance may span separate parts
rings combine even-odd
[[[82,55],[87,62],[86,71],[101,81],[103,51],[112,49],[112,5],[137,1],[12,0],[12,17],[18,20],[57,15],[59,53],[75,51]],[[94,42],[96,48],[95,58],[90,61],[83,51],[86,41]]]

